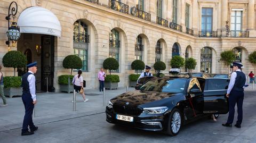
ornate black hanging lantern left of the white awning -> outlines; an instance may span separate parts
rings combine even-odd
[[[15,43],[20,38],[20,28],[17,27],[17,22],[11,22],[11,27],[9,27],[6,32],[7,37],[12,41],[12,46],[15,47]]]

